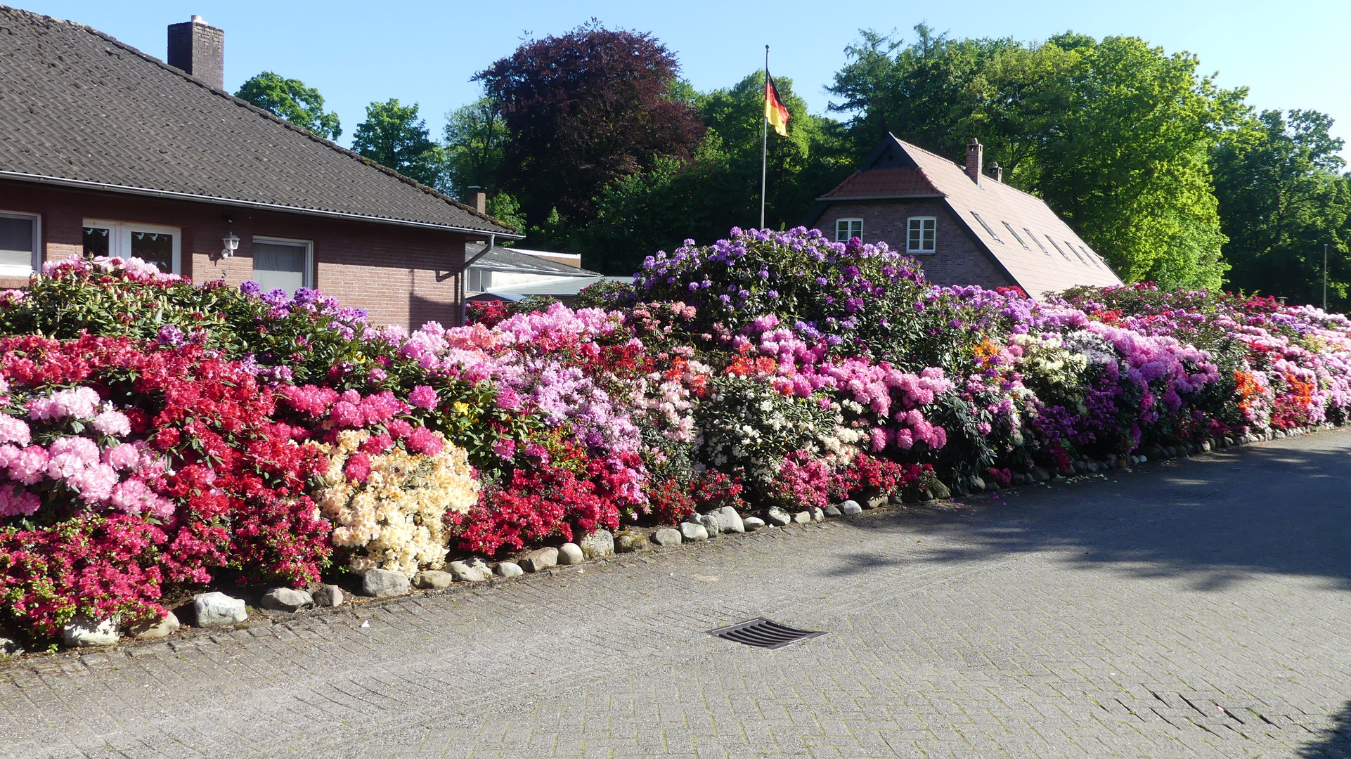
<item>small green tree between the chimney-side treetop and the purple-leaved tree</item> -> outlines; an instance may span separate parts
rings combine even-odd
[[[351,149],[427,186],[442,184],[446,151],[417,117],[416,103],[403,105],[396,97],[366,105],[366,120],[357,124]]]

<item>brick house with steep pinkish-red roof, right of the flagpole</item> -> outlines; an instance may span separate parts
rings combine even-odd
[[[835,189],[816,199],[809,227],[836,240],[885,242],[920,261],[939,285],[1017,285],[1032,297],[1121,280],[1046,201],[982,172],[888,135]]]

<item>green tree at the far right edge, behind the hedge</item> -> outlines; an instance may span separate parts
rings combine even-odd
[[[1216,146],[1228,285],[1321,305],[1327,244],[1328,307],[1351,307],[1351,177],[1331,128],[1317,111],[1263,111]]]

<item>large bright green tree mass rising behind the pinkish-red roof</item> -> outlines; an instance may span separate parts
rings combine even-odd
[[[1197,58],[1138,38],[1062,34],[1040,45],[862,32],[831,92],[854,147],[886,131],[965,158],[978,138],[1006,181],[1039,194],[1128,280],[1219,286],[1209,151],[1242,112]]]

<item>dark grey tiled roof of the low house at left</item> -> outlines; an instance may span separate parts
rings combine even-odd
[[[4,5],[0,178],[512,235],[100,31]]]

